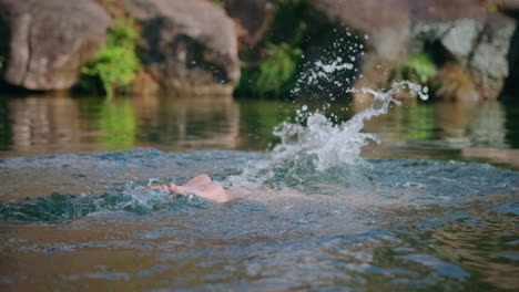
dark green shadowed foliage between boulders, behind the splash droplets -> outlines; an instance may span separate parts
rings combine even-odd
[[[287,95],[296,85],[302,55],[318,46],[323,31],[333,31],[333,28],[327,21],[316,18],[308,1],[281,1],[256,59],[242,69],[237,94]]]

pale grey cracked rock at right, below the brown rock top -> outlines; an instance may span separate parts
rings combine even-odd
[[[450,61],[464,65],[481,92],[497,98],[509,75],[508,52],[516,23],[506,18],[458,19],[413,24],[410,54],[439,43]]]

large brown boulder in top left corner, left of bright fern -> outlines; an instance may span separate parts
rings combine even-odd
[[[105,43],[110,17],[91,0],[0,0],[0,74],[29,90],[64,90]]]

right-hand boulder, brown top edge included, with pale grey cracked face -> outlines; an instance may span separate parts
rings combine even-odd
[[[409,51],[437,44],[447,60],[461,64],[471,75],[479,98],[497,98],[509,76],[508,52],[516,21],[470,0],[425,2],[413,15]]]

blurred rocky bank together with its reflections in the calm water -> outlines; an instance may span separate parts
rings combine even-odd
[[[0,0],[0,157],[155,147],[264,152],[352,87],[429,100],[370,121],[375,157],[519,169],[519,1]],[[325,106],[324,106],[325,105]]]

